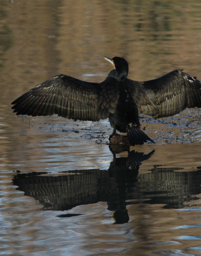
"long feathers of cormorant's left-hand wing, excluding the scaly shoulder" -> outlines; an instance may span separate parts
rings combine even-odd
[[[12,102],[12,109],[17,115],[58,114],[72,119],[98,121],[97,115],[91,115],[91,109],[95,113],[98,108],[98,94],[98,84],[59,75],[24,93]]]

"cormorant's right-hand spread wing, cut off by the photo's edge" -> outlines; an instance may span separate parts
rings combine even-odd
[[[137,82],[127,79],[126,88],[139,112],[154,119],[178,114],[185,108],[201,107],[201,83],[181,69],[158,79]]]

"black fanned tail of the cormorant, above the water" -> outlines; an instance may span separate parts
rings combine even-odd
[[[135,145],[142,145],[144,142],[153,141],[153,139],[150,139],[143,131],[141,131],[139,128],[137,128],[133,124],[127,125],[127,134],[128,134],[128,141],[132,146]]]

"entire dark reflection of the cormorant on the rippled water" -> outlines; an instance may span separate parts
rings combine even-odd
[[[48,172],[17,173],[12,181],[17,190],[43,205],[43,210],[70,210],[78,205],[106,201],[115,224],[129,221],[126,209],[129,204],[182,208],[186,206],[183,203],[196,200],[193,195],[200,193],[201,170],[188,172],[154,166],[150,172],[139,174],[143,161],[153,154],[154,150],[149,154],[128,152],[127,157],[114,158],[108,170],[73,170],[58,176],[50,176]],[[78,215],[66,213],[58,217]]]

